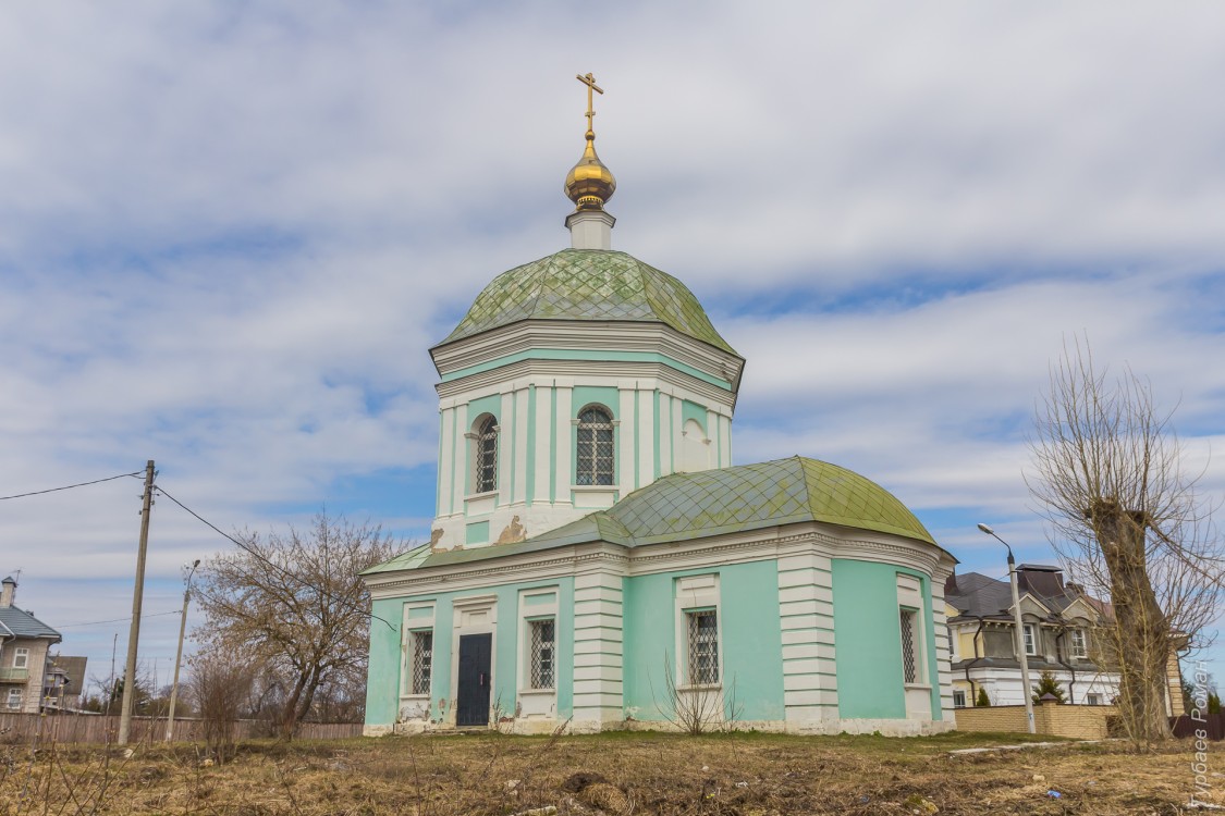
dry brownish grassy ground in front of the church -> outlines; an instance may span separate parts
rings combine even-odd
[[[202,747],[0,746],[0,814],[1181,814],[1191,746],[1121,744],[952,755],[1017,734],[921,739],[499,734]],[[1209,773],[1225,771],[1225,745]],[[1225,805],[1225,776],[1209,776]],[[1049,792],[1057,792],[1058,798]]]

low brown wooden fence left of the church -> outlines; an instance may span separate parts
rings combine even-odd
[[[0,713],[0,743],[114,743],[119,733],[119,716],[76,714],[56,712],[49,714]],[[270,736],[268,723],[240,719],[235,723],[238,739]],[[360,736],[361,723],[299,723],[298,739],[343,739]],[[174,721],[174,741],[195,743],[203,740],[203,724],[198,719]],[[165,741],[165,717],[132,717],[129,741]]]

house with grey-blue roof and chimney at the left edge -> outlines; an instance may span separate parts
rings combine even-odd
[[[38,713],[47,656],[60,632],[13,606],[16,593],[17,581],[0,581],[0,711]]]

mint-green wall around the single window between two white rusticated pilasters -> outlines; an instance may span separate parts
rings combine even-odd
[[[783,719],[783,641],[773,560],[625,580],[622,694],[626,713],[635,719],[658,722],[664,719],[660,708],[669,710],[664,666],[676,661],[675,580],[710,574],[719,575],[724,699],[730,706],[735,692],[737,719]]]

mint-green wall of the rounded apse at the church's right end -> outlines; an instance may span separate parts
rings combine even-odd
[[[924,653],[927,677],[936,670],[931,581],[922,573],[851,559],[833,559],[834,648],[838,713],[848,719],[905,719],[898,574],[922,584]],[[932,683],[932,719],[940,719],[940,684]]]

